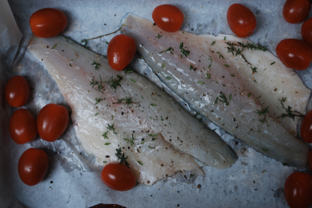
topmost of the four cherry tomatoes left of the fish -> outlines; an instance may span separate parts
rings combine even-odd
[[[12,77],[4,88],[4,96],[8,104],[13,107],[21,107],[29,98],[29,85],[22,76]]]

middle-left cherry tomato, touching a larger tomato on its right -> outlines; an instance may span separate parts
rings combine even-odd
[[[34,140],[37,136],[35,117],[26,109],[17,109],[10,119],[9,133],[17,144],[25,144]]]

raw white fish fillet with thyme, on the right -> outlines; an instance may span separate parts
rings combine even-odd
[[[277,57],[248,49],[236,56],[242,50],[237,42],[252,42],[230,35],[168,33],[133,14],[124,17],[121,30],[134,38],[160,80],[192,109],[280,162],[306,165],[308,147],[294,136],[299,119],[281,116],[288,106],[305,114],[310,90]],[[227,42],[234,43],[233,54]]]

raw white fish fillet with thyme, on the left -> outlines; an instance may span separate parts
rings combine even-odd
[[[218,169],[236,161],[221,138],[144,77],[112,70],[106,58],[61,36],[32,36],[28,50],[55,79],[72,109],[82,147],[100,163],[117,162],[120,147],[137,181],[151,185],[179,170],[203,175],[194,158]],[[112,79],[120,80],[115,89]]]

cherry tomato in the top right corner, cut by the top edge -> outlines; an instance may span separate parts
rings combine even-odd
[[[287,0],[283,7],[283,16],[286,22],[295,24],[304,21],[310,10],[310,0]]]

